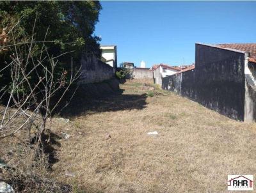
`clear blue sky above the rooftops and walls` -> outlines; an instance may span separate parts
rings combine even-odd
[[[101,1],[95,35],[124,61],[191,64],[195,43],[256,42],[256,1]]]

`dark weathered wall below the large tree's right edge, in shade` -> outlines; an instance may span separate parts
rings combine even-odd
[[[84,57],[81,59],[82,74],[80,84],[102,82],[114,77],[114,69],[95,57]]]

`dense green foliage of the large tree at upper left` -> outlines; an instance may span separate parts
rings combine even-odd
[[[1,67],[12,61],[13,44],[22,43],[18,49],[27,55],[26,42],[31,42],[31,37],[36,44],[31,50],[35,59],[48,58],[42,56],[43,47],[50,57],[65,53],[58,58],[60,69],[56,73],[62,73],[63,68],[69,72],[71,57],[76,66],[80,65],[81,54],[100,56],[100,38],[93,35],[101,10],[99,1],[0,1],[0,7],[0,31],[6,29],[8,34],[8,43],[0,42],[0,50],[7,48],[0,52]],[[10,70],[6,69],[0,84],[3,87],[8,82]]]

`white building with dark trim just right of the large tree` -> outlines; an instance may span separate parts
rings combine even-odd
[[[101,61],[112,66],[114,69],[117,68],[117,54],[116,45],[100,45],[102,50]]]

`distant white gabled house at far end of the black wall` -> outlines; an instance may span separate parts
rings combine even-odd
[[[155,84],[162,85],[162,79],[164,77],[173,75],[182,70],[182,68],[179,66],[168,66],[161,63],[160,65],[153,65],[152,70]]]

